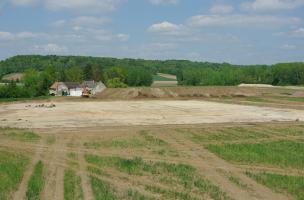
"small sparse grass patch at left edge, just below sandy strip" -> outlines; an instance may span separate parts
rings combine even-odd
[[[19,140],[24,142],[36,142],[41,138],[38,134],[23,129],[2,128],[0,129],[0,133],[11,140]]]

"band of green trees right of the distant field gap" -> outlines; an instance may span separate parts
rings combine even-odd
[[[273,66],[185,67],[177,73],[180,85],[233,86],[241,83],[304,85],[304,63]]]

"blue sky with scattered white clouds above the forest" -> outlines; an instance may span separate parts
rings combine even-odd
[[[0,0],[0,60],[28,54],[304,61],[304,0]]]

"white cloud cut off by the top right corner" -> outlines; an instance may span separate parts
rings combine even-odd
[[[241,8],[250,11],[291,10],[304,6],[304,0],[255,0],[241,4]]]

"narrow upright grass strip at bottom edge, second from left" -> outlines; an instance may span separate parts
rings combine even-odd
[[[27,185],[26,199],[38,200],[44,186],[43,163],[39,161]]]

